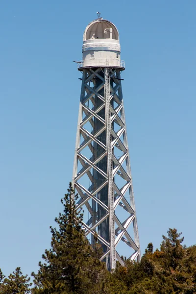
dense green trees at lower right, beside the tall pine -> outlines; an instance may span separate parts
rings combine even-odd
[[[170,228],[168,236],[163,236],[160,250],[153,252],[149,243],[140,263],[126,261],[126,267],[118,266],[111,280],[122,288],[111,293],[196,293],[196,246],[182,246],[184,238],[180,236],[181,233]]]

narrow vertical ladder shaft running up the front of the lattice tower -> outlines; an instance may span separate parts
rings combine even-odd
[[[106,147],[107,147],[107,176],[108,176],[108,206],[110,227],[110,264],[111,270],[116,269],[115,248],[115,220],[114,220],[114,185],[113,185],[113,160],[112,160],[112,132],[110,110],[110,70],[105,68],[105,124],[106,124]]]

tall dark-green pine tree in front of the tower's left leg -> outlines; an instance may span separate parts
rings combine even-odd
[[[103,293],[106,276],[105,265],[97,256],[98,243],[94,249],[84,238],[83,213],[76,212],[72,184],[61,203],[63,213],[55,222],[58,229],[50,226],[51,248],[43,254],[44,264],[34,272],[34,294],[90,294]]]

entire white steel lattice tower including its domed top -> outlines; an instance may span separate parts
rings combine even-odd
[[[140,244],[123,107],[119,32],[98,18],[85,29],[73,166],[77,209],[90,244],[97,232],[108,270],[121,256],[140,261]]]

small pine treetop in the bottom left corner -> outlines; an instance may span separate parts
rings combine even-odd
[[[4,278],[0,272],[1,279],[3,279],[0,286],[0,294],[28,294],[31,292],[30,278],[28,275],[23,275],[21,268],[16,268],[8,278]]]

